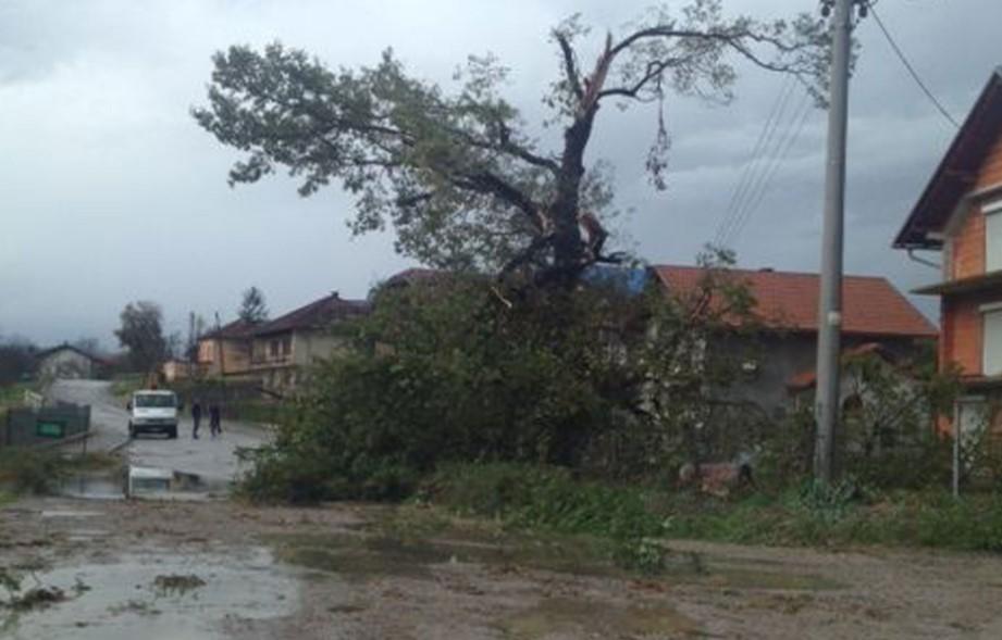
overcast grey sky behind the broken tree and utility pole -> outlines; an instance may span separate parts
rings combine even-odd
[[[581,12],[601,34],[650,2],[597,0],[0,0],[0,335],[41,344],[111,331],[132,300],[159,302],[168,327],[189,311],[232,318],[263,289],[273,315],[331,290],[363,297],[411,265],[392,237],[351,238],[337,188],[301,199],[285,177],[231,189],[237,154],[188,114],[205,102],[211,54],[279,39],[331,65],[372,64],[393,46],[416,75],[448,83],[469,53],[511,68],[508,96],[530,122],[556,72],[549,27]],[[679,5],[680,2],[672,2]],[[815,0],[727,0],[759,17]],[[881,0],[878,11],[957,120],[1002,62],[998,0]],[[908,289],[936,280],[890,242],[953,136],[864,21],[851,89],[848,273]],[[582,58],[592,60],[592,51]],[[655,112],[599,115],[589,160],[616,170],[631,248],[690,263],[727,211],[782,78],[747,66],[728,106],[671,99],[669,189],[643,172]],[[794,103],[791,101],[791,106]],[[825,115],[813,111],[735,240],[740,264],[816,271]],[[923,304],[932,314],[935,304]]]

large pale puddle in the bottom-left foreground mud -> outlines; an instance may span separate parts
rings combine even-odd
[[[72,595],[27,613],[0,610],[0,638],[215,640],[225,637],[227,623],[286,615],[298,601],[295,577],[274,565],[265,549],[239,555],[125,556],[113,564],[38,573],[37,578]]]

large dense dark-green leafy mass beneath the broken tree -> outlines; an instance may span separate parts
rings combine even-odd
[[[725,298],[744,309],[738,289]],[[707,380],[726,381],[726,363],[740,359],[702,357],[706,331],[730,331],[721,318],[740,311],[702,294],[666,301],[660,290],[602,284],[498,291],[454,275],[374,301],[371,315],[339,325],[351,349],[311,372],[256,459],[251,475],[268,481],[249,477],[250,497],[397,498],[450,463],[663,474],[689,451]],[[697,355],[705,371],[692,366]],[[663,391],[650,384],[658,377]]]

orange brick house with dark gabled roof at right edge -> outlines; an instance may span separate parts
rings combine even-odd
[[[957,367],[962,427],[1002,431],[1002,68],[978,97],[894,239],[942,252],[940,366]]]

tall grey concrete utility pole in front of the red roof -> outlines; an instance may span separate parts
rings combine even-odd
[[[822,484],[834,473],[839,424],[842,331],[842,226],[845,209],[845,129],[849,111],[849,59],[852,9],[859,0],[822,0],[831,14],[831,80],[828,104],[828,161],[825,173],[825,226],[821,237],[821,290],[818,309],[817,393],[814,473]],[[865,0],[861,2],[865,11]]]

